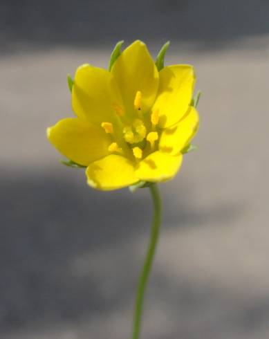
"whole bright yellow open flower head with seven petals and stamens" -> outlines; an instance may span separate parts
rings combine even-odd
[[[84,64],[72,87],[76,118],[48,128],[48,139],[71,161],[86,166],[89,185],[116,190],[139,181],[173,178],[182,151],[196,134],[192,107],[194,69],[158,71],[147,46],[137,40],[111,71]]]

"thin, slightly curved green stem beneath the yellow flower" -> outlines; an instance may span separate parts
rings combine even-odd
[[[160,218],[161,218],[161,201],[158,186],[152,184],[149,186],[151,192],[151,198],[154,204],[154,217],[151,224],[151,236],[149,241],[149,247],[147,249],[147,256],[140,274],[140,280],[138,282],[138,290],[136,294],[136,305],[133,313],[133,337],[132,339],[138,339],[140,336],[140,327],[142,320],[142,309],[144,302],[145,289],[149,280],[149,273],[151,271],[152,262],[154,260],[154,254],[156,251],[156,245],[159,237],[160,230]]]

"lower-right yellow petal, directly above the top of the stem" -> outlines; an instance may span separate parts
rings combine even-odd
[[[136,176],[142,181],[166,181],[178,172],[183,156],[170,156],[160,151],[149,154],[138,164]]]

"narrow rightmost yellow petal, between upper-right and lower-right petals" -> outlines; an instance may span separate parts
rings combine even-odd
[[[178,154],[194,138],[198,129],[199,116],[194,107],[173,127],[165,129],[160,136],[159,149],[171,155]]]

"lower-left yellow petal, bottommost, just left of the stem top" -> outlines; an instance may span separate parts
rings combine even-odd
[[[133,163],[123,156],[111,154],[95,161],[86,169],[88,184],[97,190],[117,190],[138,181]]]

